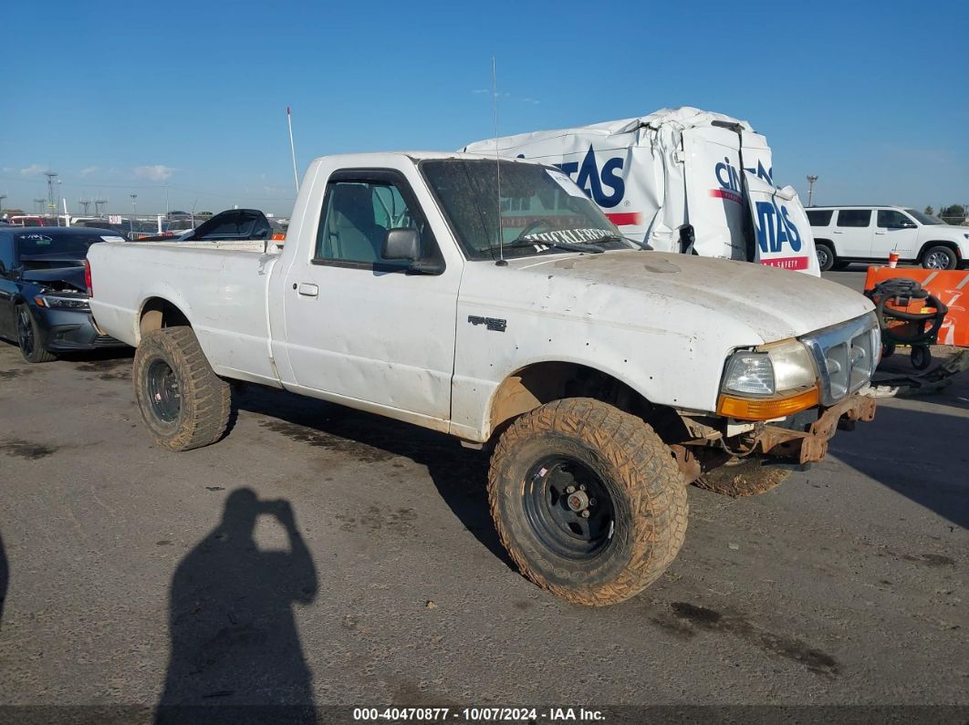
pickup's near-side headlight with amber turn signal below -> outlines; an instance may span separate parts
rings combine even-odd
[[[743,420],[783,418],[818,404],[818,372],[797,340],[738,350],[727,361],[717,411]]]

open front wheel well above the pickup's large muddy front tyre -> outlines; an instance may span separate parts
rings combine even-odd
[[[592,398],[641,417],[667,442],[686,434],[672,408],[654,406],[621,380],[577,363],[542,362],[522,368],[498,386],[491,400],[491,436],[500,434],[522,413],[564,398]]]

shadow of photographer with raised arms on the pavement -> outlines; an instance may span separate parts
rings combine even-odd
[[[286,530],[289,551],[259,549],[260,516]],[[316,591],[289,501],[260,500],[248,488],[230,494],[219,525],[172,578],[172,649],[156,723],[315,722],[294,604],[309,604]]]

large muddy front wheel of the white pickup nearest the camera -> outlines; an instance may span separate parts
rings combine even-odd
[[[495,528],[521,573],[577,604],[652,584],[686,535],[686,484],[641,418],[572,398],[525,413],[491,458]]]

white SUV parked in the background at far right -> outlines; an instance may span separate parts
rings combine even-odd
[[[928,269],[955,269],[969,257],[969,227],[903,206],[812,206],[807,218],[822,271],[887,261],[891,252]]]

